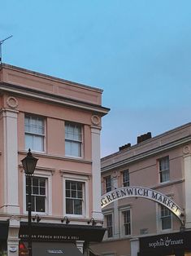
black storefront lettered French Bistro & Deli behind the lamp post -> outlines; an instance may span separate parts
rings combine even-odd
[[[89,242],[100,242],[106,229],[100,226],[33,223],[33,255],[86,254]],[[20,255],[28,247],[28,223],[20,223]],[[65,252],[65,253],[64,253]]]

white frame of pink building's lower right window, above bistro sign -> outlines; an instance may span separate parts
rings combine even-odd
[[[69,174],[67,172],[63,173],[63,216],[71,218],[89,218],[89,176],[80,175],[80,174]],[[84,204],[82,207],[82,214],[67,214],[66,213],[66,180],[71,180],[75,182],[84,183],[83,186],[83,195],[84,195]]]

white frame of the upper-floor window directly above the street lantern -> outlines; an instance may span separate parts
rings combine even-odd
[[[38,118],[39,117],[39,118],[41,118],[43,120],[43,122],[44,122],[44,134],[43,135],[42,134],[35,134],[33,132],[26,131],[25,130],[25,118],[26,117],[34,117],[34,118]],[[30,149],[33,152],[45,152],[46,151],[46,143],[45,143],[45,141],[46,141],[46,118],[45,117],[41,117],[41,116],[37,116],[37,115],[33,115],[31,113],[25,113],[24,114],[24,149],[28,151],[28,148],[26,147],[26,135],[33,135],[33,136],[37,135],[37,136],[41,137],[42,140],[43,140],[43,150],[42,151],[38,151],[38,150],[36,150],[33,147],[30,147]]]

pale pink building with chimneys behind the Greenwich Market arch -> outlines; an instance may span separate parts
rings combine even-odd
[[[191,255],[191,123],[102,158],[105,256]]]

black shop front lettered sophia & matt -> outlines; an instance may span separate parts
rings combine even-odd
[[[191,255],[191,231],[176,232],[140,238],[138,256],[189,256]]]

